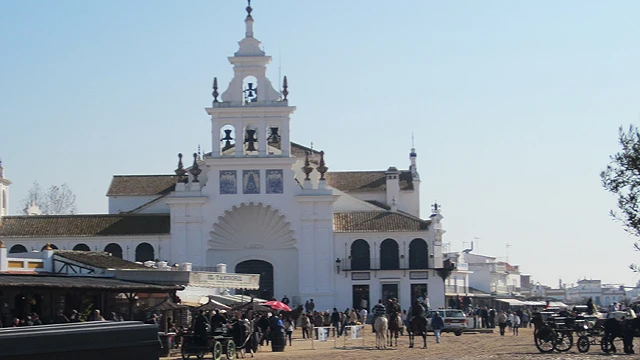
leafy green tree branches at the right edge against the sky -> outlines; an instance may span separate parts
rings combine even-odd
[[[614,219],[620,221],[625,231],[640,237],[640,130],[634,125],[618,130],[622,147],[609,157],[606,169],[600,173],[604,188],[618,197],[618,209],[611,210]],[[640,245],[635,243],[636,250]]]

